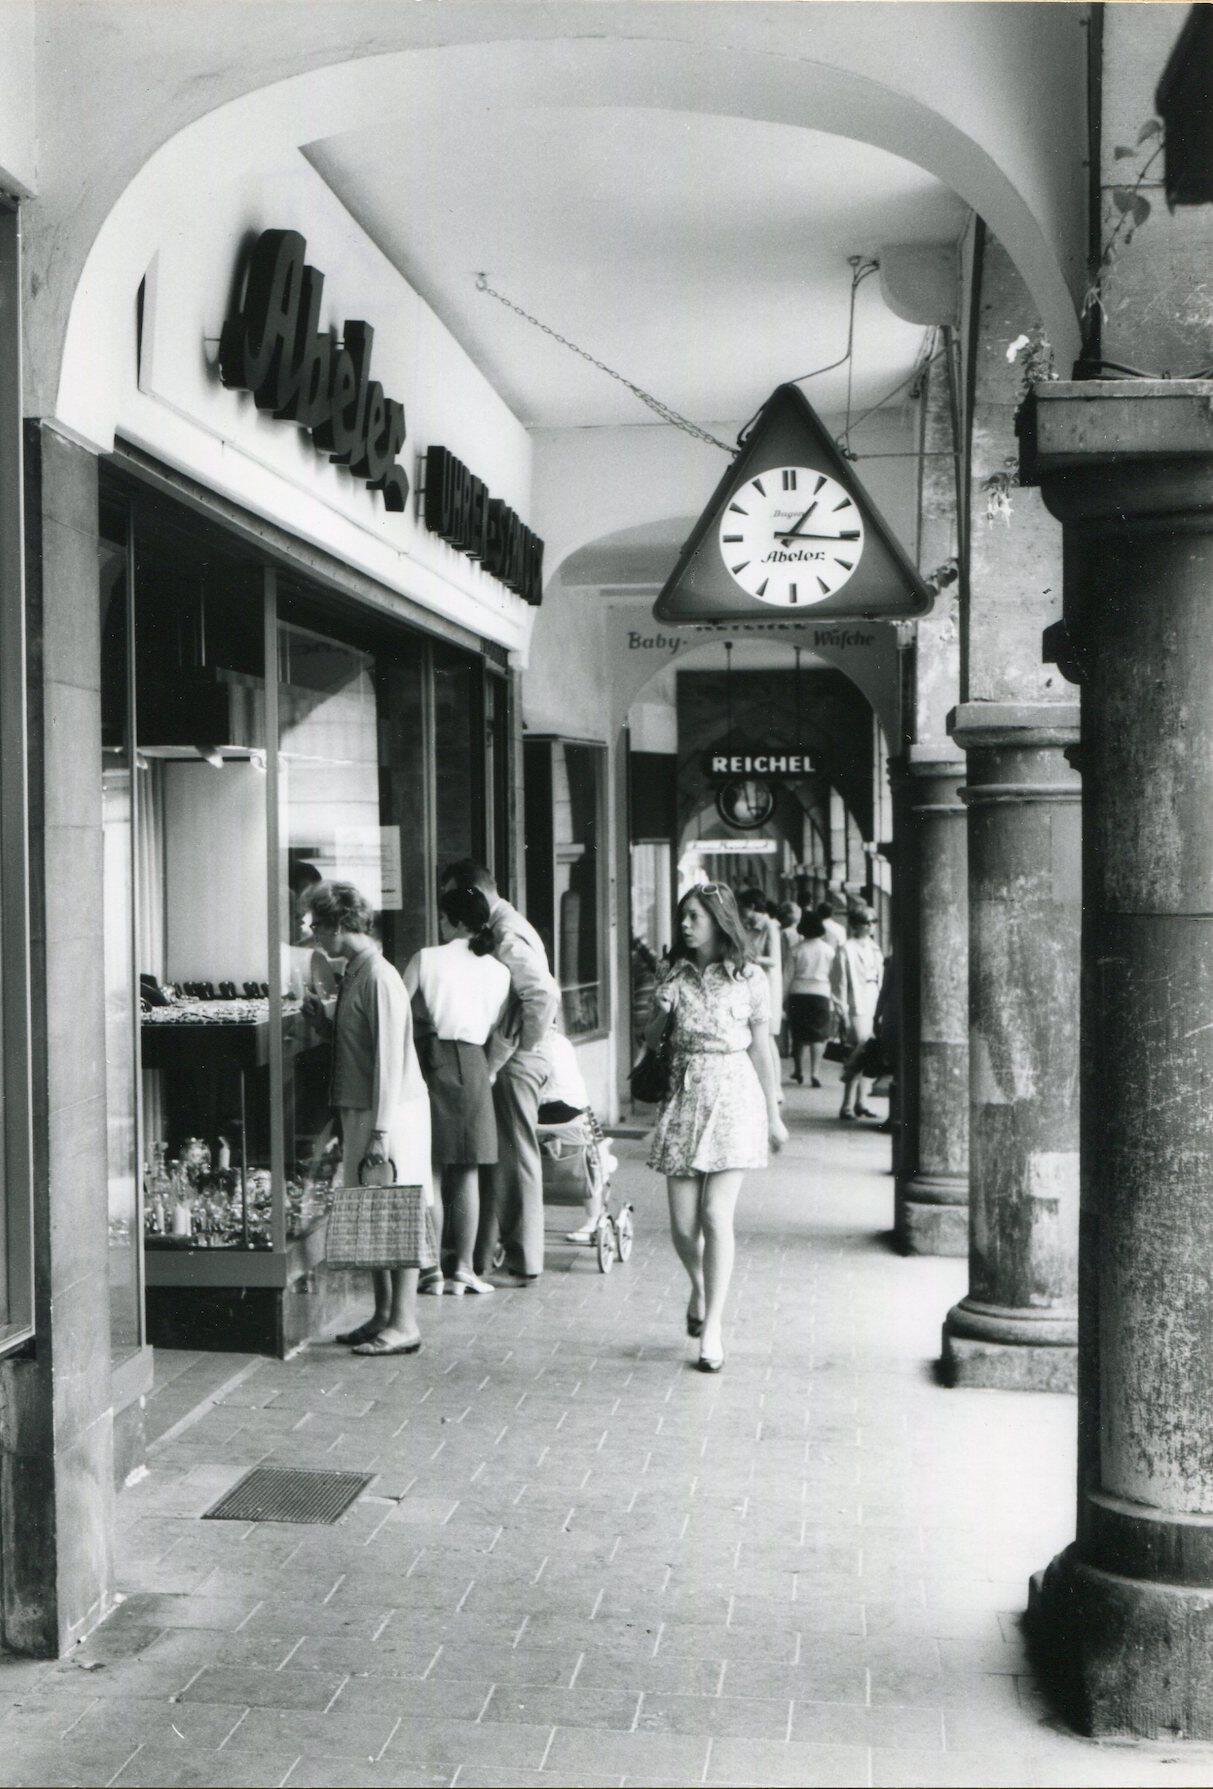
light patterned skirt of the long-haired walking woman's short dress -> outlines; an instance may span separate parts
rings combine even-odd
[[[768,1116],[748,1050],[676,1052],[649,1150],[658,1174],[766,1168]]]

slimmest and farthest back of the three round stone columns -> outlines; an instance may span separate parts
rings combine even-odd
[[[905,1254],[968,1252],[968,894],[964,762],[911,746],[902,886],[912,934],[903,1018],[911,1075],[895,1197]],[[898,864],[902,868],[902,864]]]

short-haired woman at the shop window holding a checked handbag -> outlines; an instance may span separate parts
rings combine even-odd
[[[374,909],[352,882],[317,882],[306,905],[317,945],[345,964],[331,1016],[317,995],[304,998],[308,1016],[333,1030],[331,1104],[342,1120],[345,1184],[363,1163],[390,1161],[399,1184],[424,1188],[429,1202],[429,1095],[404,982],[370,937]],[[336,1340],[354,1354],[415,1354],[417,1268],[377,1268],[372,1279],[374,1313]]]

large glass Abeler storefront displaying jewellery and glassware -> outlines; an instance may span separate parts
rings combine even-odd
[[[437,941],[438,864],[492,843],[501,680],[159,497],[102,537],[113,1347],[145,1286],[154,1344],[281,1351],[336,1166],[304,896],[354,882],[401,970]]]

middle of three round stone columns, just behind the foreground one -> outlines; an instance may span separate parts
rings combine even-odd
[[[1079,705],[971,701],[968,751],[970,1290],[950,1385],[1072,1392],[1077,1374]]]

